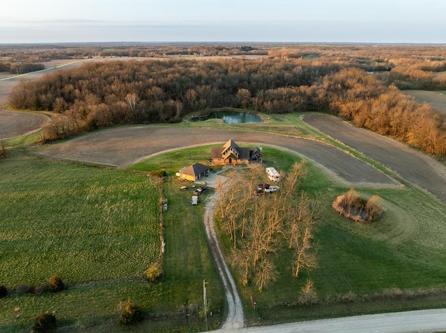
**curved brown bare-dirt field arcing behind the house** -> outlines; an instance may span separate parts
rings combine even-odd
[[[232,138],[240,145],[282,147],[321,166],[348,184],[395,186],[396,183],[345,152],[313,140],[271,133],[220,129],[186,129],[180,127],[116,127],[75,138],[40,149],[37,154],[55,159],[68,159],[126,167],[147,156],[194,145],[226,143]],[[265,157],[268,160],[268,156]]]

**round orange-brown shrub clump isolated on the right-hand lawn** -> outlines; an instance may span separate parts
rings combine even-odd
[[[374,195],[366,201],[353,188],[347,193],[339,195],[332,206],[342,216],[355,222],[373,222],[383,213],[378,195]]]

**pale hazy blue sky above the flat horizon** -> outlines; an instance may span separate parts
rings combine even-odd
[[[446,0],[2,1],[0,44],[446,44]]]

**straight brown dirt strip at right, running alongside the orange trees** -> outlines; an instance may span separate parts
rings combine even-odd
[[[358,129],[329,115],[305,115],[303,120],[332,138],[362,152],[403,179],[420,186],[446,203],[446,167],[390,138]]]

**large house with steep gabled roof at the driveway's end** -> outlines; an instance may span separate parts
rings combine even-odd
[[[223,147],[215,147],[210,152],[210,159],[215,165],[249,164],[252,161],[261,162],[261,148],[251,150],[248,147],[238,147],[231,139]]]

